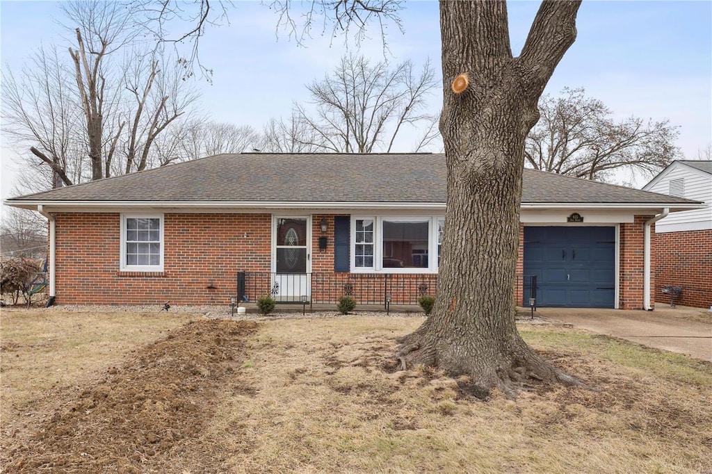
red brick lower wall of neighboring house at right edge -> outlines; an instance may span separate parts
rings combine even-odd
[[[712,230],[666,232],[655,236],[654,294],[669,302],[664,285],[679,286],[677,305],[708,308],[712,305]]]

